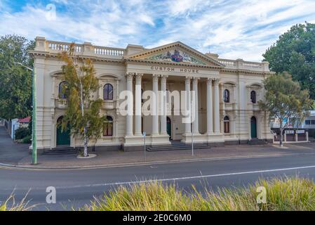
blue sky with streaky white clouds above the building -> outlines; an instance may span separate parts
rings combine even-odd
[[[305,21],[315,23],[314,0],[0,0],[1,36],[121,48],[182,41],[220,58],[255,61]]]

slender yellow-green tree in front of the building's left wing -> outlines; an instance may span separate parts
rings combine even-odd
[[[70,127],[72,135],[83,136],[84,157],[88,156],[88,141],[98,139],[106,120],[100,115],[102,100],[95,99],[94,94],[100,85],[95,77],[93,62],[76,56],[75,44],[69,51],[62,52],[60,58],[63,78],[67,91],[67,110],[62,119],[62,130]]]

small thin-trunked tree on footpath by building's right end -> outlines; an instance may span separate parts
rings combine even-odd
[[[267,93],[259,105],[269,112],[269,120],[279,120],[280,146],[283,146],[283,130],[289,124],[300,124],[314,107],[314,100],[309,98],[309,91],[301,90],[300,84],[288,73],[268,77],[264,80],[264,89]]]

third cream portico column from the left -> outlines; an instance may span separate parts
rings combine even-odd
[[[152,98],[152,136],[159,135],[159,115],[158,115],[158,108],[159,108],[159,101],[158,101],[158,94],[159,94],[159,75],[152,76],[152,91],[154,93],[154,98]]]

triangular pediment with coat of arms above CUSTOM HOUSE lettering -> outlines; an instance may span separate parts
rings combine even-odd
[[[157,61],[161,63],[178,63],[201,66],[224,67],[217,60],[206,56],[191,47],[177,41],[154,49],[127,56],[127,59]]]

